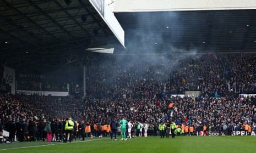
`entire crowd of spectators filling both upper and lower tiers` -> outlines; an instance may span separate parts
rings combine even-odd
[[[110,123],[122,116],[133,123],[175,121],[196,127],[254,127],[256,93],[253,55],[202,55],[197,58],[105,57],[86,67],[84,99],[5,95],[0,99],[1,127],[28,118],[72,117],[88,124]],[[201,96],[173,97],[186,90]],[[99,95],[99,96],[97,96]],[[171,104],[171,107],[170,107]],[[232,110],[232,111],[231,111]],[[49,120],[50,121],[50,120]]]

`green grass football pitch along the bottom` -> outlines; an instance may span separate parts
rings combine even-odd
[[[110,138],[86,139],[72,143],[42,141],[0,144],[0,152],[255,152],[256,137],[159,137],[111,141]]]

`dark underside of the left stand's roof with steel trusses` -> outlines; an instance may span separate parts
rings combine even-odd
[[[68,65],[107,45],[120,44],[89,1],[0,1],[2,64]]]

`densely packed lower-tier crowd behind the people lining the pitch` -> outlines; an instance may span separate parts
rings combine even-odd
[[[115,99],[115,100],[114,100]],[[109,124],[113,117],[120,120],[125,116],[134,124],[148,123],[149,127],[157,127],[159,123],[176,122],[193,126],[201,131],[200,127],[207,125],[210,129],[243,127],[249,124],[255,129],[253,109],[255,97],[240,98],[210,98],[210,97],[164,97],[157,98],[113,98],[90,101],[89,99],[72,99],[70,97],[45,96],[2,96],[1,97],[1,129],[20,132],[20,124],[29,135],[32,121],[36,126],[32,131],[43,133],[47,122],[51,118],[58,118],[58,122],[66,117],[74,121],[94,127],[94,124]],[[170,104],[171,107],[170,107]],[[232,111],[230,111],[232,110]],[[16,126],[10,126],[14,125]],[[15,127],[15,128],[14,128]],[[199,129],[198,129],[199,128]],[[156,128],[157,129],[157,128]],[[22,130],[21,130],[22,131]],[[12,132],[14,133],[14,132]],[[40,137],[43,137],[42,135]]]

